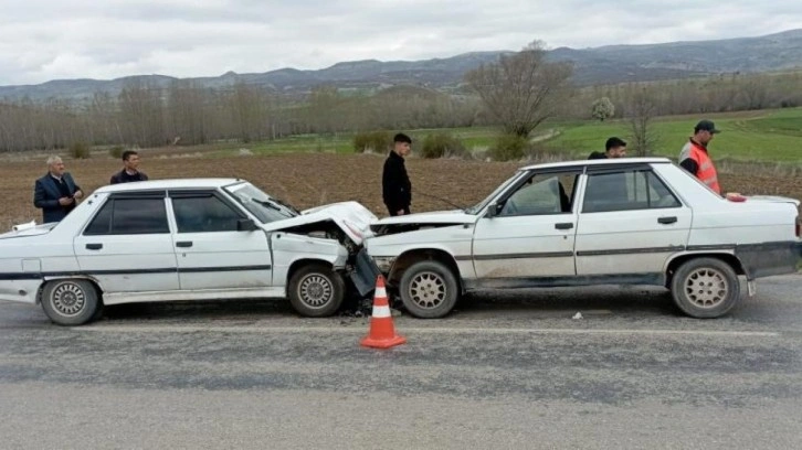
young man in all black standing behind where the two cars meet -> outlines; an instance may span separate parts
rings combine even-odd
[[[412,139],[400,132],[393,138],[393,149],[384,160],[381,175],[381,192],[387,211],[391,216],[410,214],[412,183],[407,174],[404,157],[410,154]]]

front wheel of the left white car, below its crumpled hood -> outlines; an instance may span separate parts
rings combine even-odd
[[[342,304],[342,277],[321,264],[304,266],[289,280],[289,302],[307,318],[331,315]]]

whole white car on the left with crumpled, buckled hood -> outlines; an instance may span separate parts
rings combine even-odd
[[[0,235],[0,300],[41,302],[62,325],[172,300],[288,297],[302,315],[330,315],[347,283],[372,289],[374,269],[357,266],[374,219],[356,202],[298,212],[233,179],[105,186],[60,223]]]

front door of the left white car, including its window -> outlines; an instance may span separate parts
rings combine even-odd
[[[272,285],[267,234],[233,202],[217,191],[170,191],[169,196],[182,290]]]

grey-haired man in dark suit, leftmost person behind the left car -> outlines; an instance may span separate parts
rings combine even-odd
[[[42,208],[42,223],[61,222],[83,196],[81,186],[64,171],[61,158],[50,157],[48,174],[36,180],[33,189],[33,205]]]

